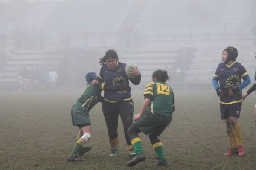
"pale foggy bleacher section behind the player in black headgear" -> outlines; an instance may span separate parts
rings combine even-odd
[[[241,63],[254,79],[255,72],[255,49],[251,46],[239,46],[239,55],[237,62]],[[194,53],[194,58],[186,69],[184,77],[185,83],[200,82],[202,84],[211,84],[212,76],[221,60],[223,47],[198,48]]]

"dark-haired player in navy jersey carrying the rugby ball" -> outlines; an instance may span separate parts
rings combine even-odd
[[[115,50],[109,49],[104,57],[100,58],[99,62],[102,67],[99,73],[99,82],[104,82],[108,85],[129,86],[129,80],[138,85],[141,80],[139,69],[130,69],[129,74],[135,75],[135,78],[128,78],[125,73],[125,63],[120,63]],[[119,149],[119,137],[117,133],[118,116],[120,115],[124,127],[125,139],[129,156],[134,156],[131,141],[127,135],[127,130],[132,124],[134,112],[134,103],[131,93],[127,90],[120,91],[105,91],[102,102],[102,110],[108,128],[108,137],[111,145],[110,156],[117,156]]]

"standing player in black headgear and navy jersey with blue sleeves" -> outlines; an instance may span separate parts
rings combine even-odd
[[[221,119],[226,122],[231,145],[224,156],[233,154],[243,156],[245,153],[238,119],[243,101],[241,90],[250,84],[250,77],[244,66],[236,62],[237,56],[236,48],[232,46],[225,48],[222,52],[223,62],[219,63],[212,79],[212,85],[220,97]],[[244,80],[242,83],[241,79]]]

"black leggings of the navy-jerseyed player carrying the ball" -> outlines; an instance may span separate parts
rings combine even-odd
[[[118,101],[116,103],[103,101],[102,110],[107,124],[109,138],[115,139],[118,136],[118,115],[120,115],[124,127],[126,143],[127,145],[131,145],[131,141],[127,135],[127,130],[133,122],[133,101]]]

